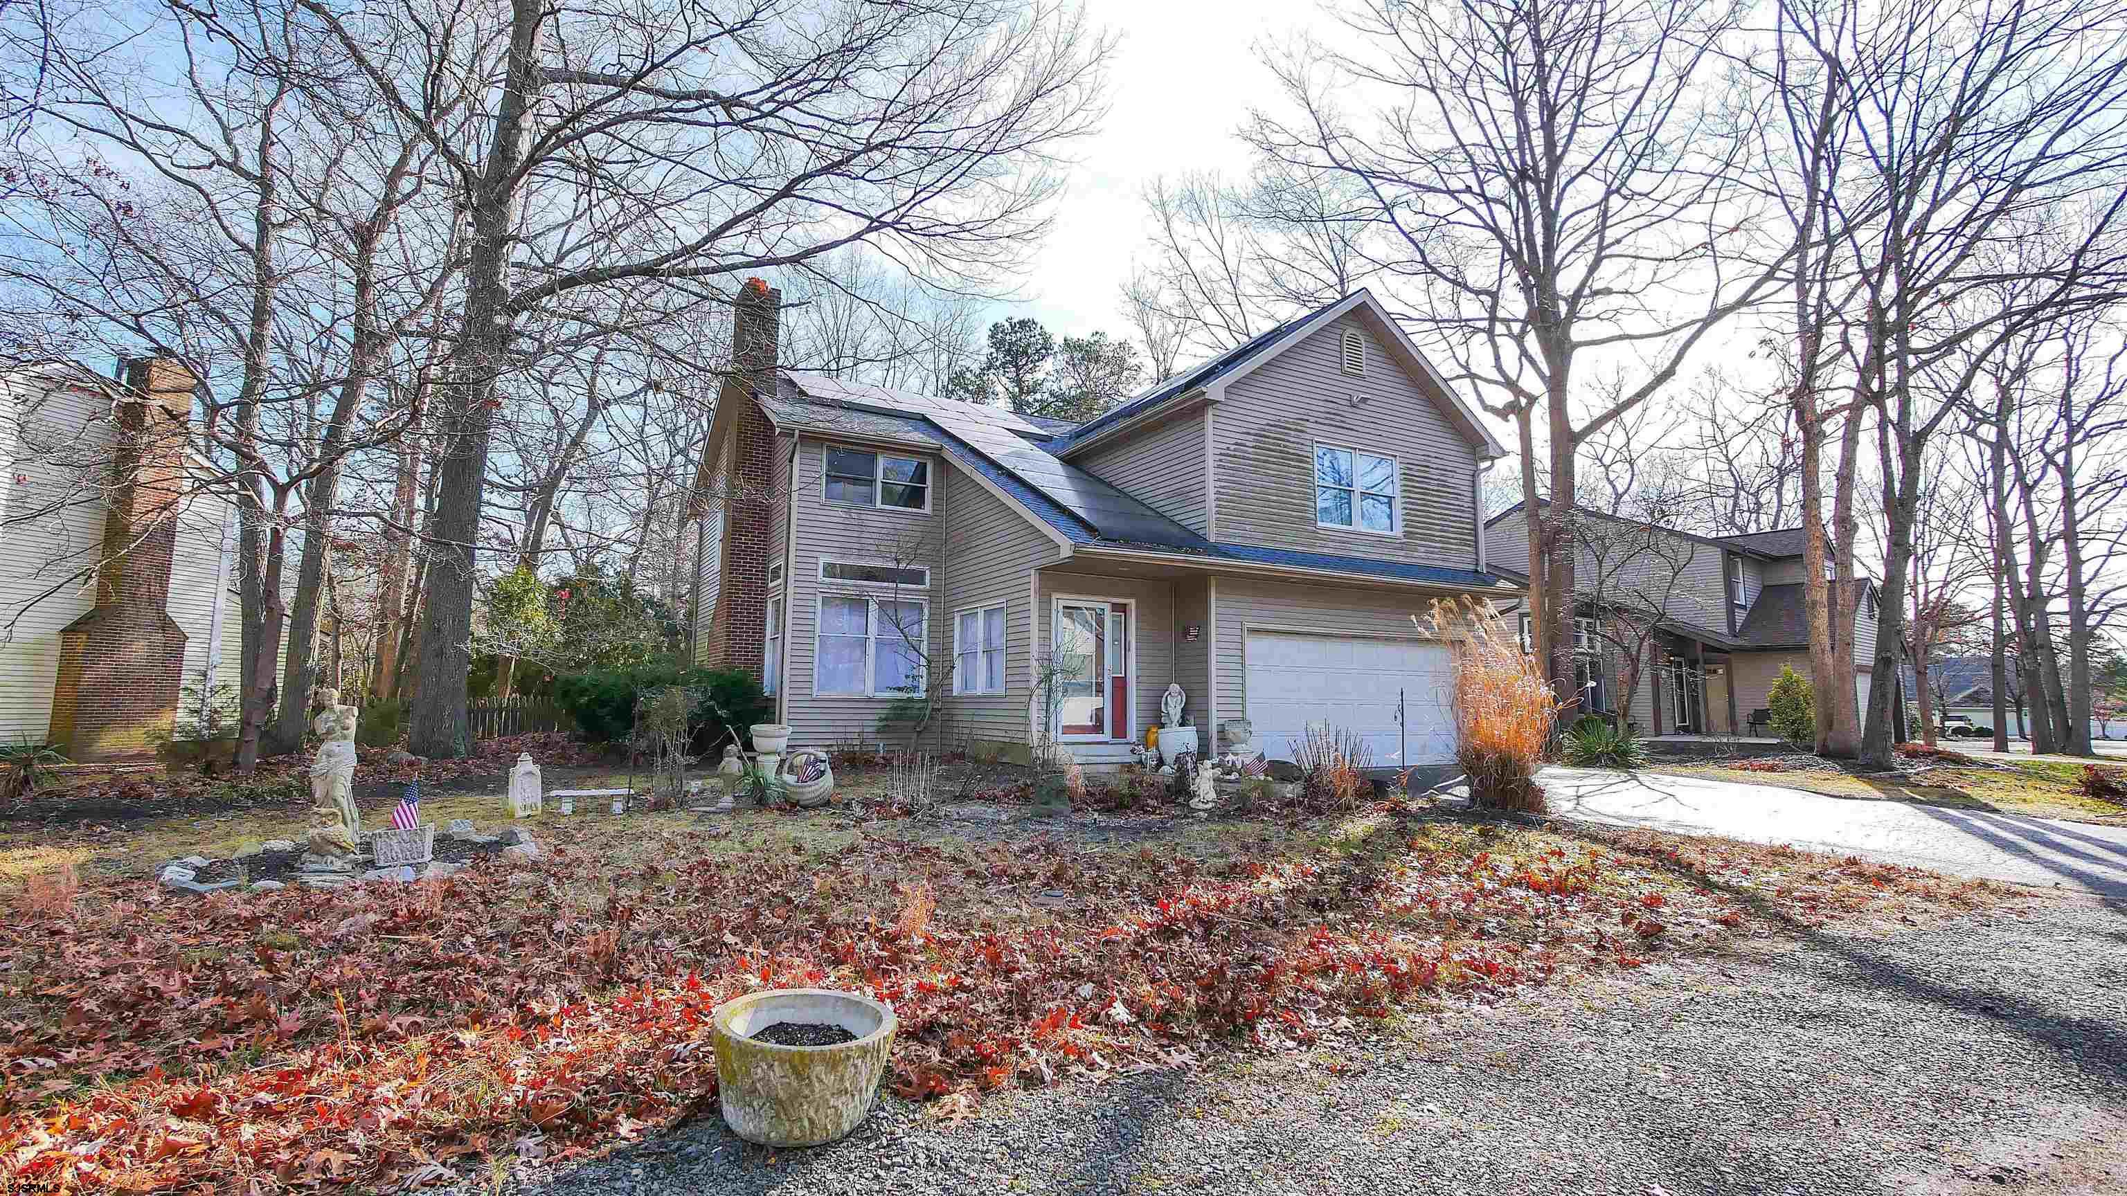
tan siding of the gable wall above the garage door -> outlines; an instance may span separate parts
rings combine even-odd
[[[1342,372],[1340,340],[1368,340],[1368,372]],[[1314,526],[1314,445],[1397,460],[1397,534]],[[1395,366],[1370,319],[1340,317],[1234,381],[1215,404],[1219,541],[1319,553],[1476,566],[1476,447],[1442,402]],[[1221,685],[1221,702],[1225,702]]]

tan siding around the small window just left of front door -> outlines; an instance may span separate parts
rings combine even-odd
[[[947,734],[953,743],[1027,743],[1034,645],[1027,577],[1055,560],[1057,549],[981,481],[957,468],[944,472],[944,555],[953,568],[940,587],[944,638],[938,641],[938,660],[951,658],[955,611],[1004,604],[1004,694],[949,698]]]

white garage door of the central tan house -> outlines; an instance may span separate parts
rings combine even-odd
[[[1446,645],[1249,632],[1249,721],[1272,760],[1291,760],[1308,724],[1327,721],[1366,736],[1376,766],[1406,764],[1397,760],[1402,696],[1408,764],[1448,764],[1455,760],[1451,685]]]

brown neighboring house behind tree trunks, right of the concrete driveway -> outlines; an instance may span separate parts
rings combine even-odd
[[[1642,734],[1768,734],[1753,713],[1768,709],[1780,668],[1810,677],[1810,636],[1804,617],[1804,530],[1782,528],[1748,536],[1695,536],[1576,511],[1576,651],[1582,653],[1582,694],[1600,713],[1623,702],[1619,685],[1623,638],[1648,649],[1642,679],[1625,713]],[[1493,572],[1527,583],[1529,521],[1523,504],[1487,521]],[[1617,545],[1625,545],[1619,549]],[[1606,555],[1608,553],[1608,555]],[[1861,581],[1855,604],[1855,696],[1865,707],[1876,658],[1876,583]],[[1627,609],[1627,613],[1617,613]],[[1593,619],[1634,624],[1629,611],[1659,611],[1644,619],[1648,636],[1608,634]],[[1523,613],[1527,624],[1527,615]],[[1600,662],[1600,666],[1597,666]],[[1893,709],[1904,721],[1904,704]]]

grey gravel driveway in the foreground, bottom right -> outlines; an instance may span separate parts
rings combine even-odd
[[[2127,921],[2087,896],[2025,904],[1895,932],[1795,928],[1306,1053],[993,1096],[959,1126],[889,1096],[817,1151],[749,1147],[708,1115],[527,1190],[2127,1190]]]

